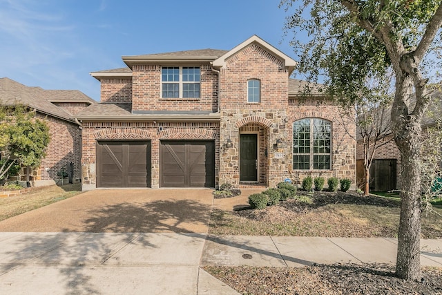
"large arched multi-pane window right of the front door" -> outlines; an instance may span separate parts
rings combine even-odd
[[[329,170],[332,167],[332,123],[307,118],[293,123],[293,169]]]

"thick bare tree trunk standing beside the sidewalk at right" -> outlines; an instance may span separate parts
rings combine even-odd
[[[405,280],[421,280],[421,125],[419,121],[416,118],[407,120],[401,134],[395,134],[396,144],[401,151],[402,187],[396,276]]]

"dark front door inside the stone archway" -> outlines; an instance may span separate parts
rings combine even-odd
[[[258,135],[240,135],[240,181],[258,180]]]

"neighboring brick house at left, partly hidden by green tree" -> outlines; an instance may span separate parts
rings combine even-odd
[[[81,179],[81,128],[73,115],[95,103],[80,91],[44,90],[0,78],[1,106],[20,104],[35,109],[37,117],[49,126],[50,142],[46,157],[30,175],[34,186],[54,184],[59,180],[57,173],[70,162],[73,162],[73,179]],[[25,171],[20,172],[19,180],[26,180]]]

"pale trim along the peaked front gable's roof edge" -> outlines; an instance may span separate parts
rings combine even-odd
[[[236,55],[238,52],[246,48],[247,46],[251,44],[258,44],[260,47],[267,50],[269,53],[274,55],[275,57],[278,57],[278,59],[282,60],[284,63],[284,66],[289,69],[289,73],[293,72],[295,69],[296,64],[298,64],[294,59],[291,59],[288,55],[285,55],[285,53],[282,53],[277,48],[273,47],[271,44],[267,43],[266,41],[262,40],[260,37],[253,35],[246,41],[242,42],[232,50],[229,50],[227,53],[224,53],[221,57],[218,57],[218,59],[215,59],[212,62],[213,68],[222,68],[226,65],[226,62],[228,59],[233,57],[233,55]]]

